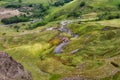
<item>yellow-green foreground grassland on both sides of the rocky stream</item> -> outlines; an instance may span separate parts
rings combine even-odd
[[[54,40],[57,32],[54,30],[37,32],[42,28],[32,30],[33,33],[1,36],[4,40],[1,42],[1,45],[4,46],[1,49],[31,71],[34,80],[58,80],[58,78],[76,77],[77,75],[91,79],[95,77],[119,79],[120,77],[117,76],[119,68],[110,64],[114,62],[119,65],[120,25],[117,24],[117,21],[119,19],[69,24],[68,27],[73,33],[79,34],[79,37],[70,38],[63,53],[58,55],[53,54],[56,45],[49,42],[51,39]],[[107,22],[112,22],[117,26],[107,24]],[[76,49],[79,50],[71,54]],[[78,68],[80,70],[78,71],[76,67],[82,64],[84,66]],[[104,71],[104,74],[101,71]],[[112,71],[115,73],[111,73]]]

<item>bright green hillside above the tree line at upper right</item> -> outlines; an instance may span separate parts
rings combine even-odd
[[[82,2],[85,2],[84,6],[80,6]],[[118,4],[120,3],[119,0],[113,1],[113,0],[74,0],[63,7],[59,8],[57,11],[54,10],[51,13],[51,16],[49,17],[56,17],[56,18],[66,18],[67,15],[70,13],[72,14],[73,12],[81,12],[81,13],[91,13],[91,12],[101,12],[104,11],[105,9],[113,9],[113,11],[119,11]],[[98,11],[101,8],[100,11]],[[103,9],[103,10],[102,10]],[[80,14],[81,15],[81,14]],[[50,18],[51,19],[51,18]]]

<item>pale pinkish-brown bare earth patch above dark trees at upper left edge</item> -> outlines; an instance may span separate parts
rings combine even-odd
[[[0,19],[9,18],[18,15],[20,15],[20,12],[17,9],[0,8]]]

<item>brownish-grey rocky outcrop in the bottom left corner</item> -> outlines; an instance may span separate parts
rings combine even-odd
[[[0,52],[0,80],[33,80],[31,73],[4,52]]]

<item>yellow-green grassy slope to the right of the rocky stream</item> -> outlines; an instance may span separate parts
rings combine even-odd
[[[96,22],[73,23],[68,27],[76,34],[79,34],[79,38],[71,39],[70,43],[64,47],[64,55],[61,55],[61,58],[64,57],[62,59],[73,66],[86,63],[86,67],[83,67],[80,71],[71,71],[67,73],[68,76],[71,74],[73,77],[79,75],[91,79],[119,79],[120,77],[116,75],[119,74],[119,68],[110,64],[111,60],[109,59],[119,56],[120,53],[119,28],[111,27],[109,24],[109,27],[107,25],[108,30],[104,30],[106,25],[100,25]],[[70,55],[76,49],[79,50]],[[119,65],[119,57],[116,58],[116,61],[116,64]],[[112,71],[115,73],[112,73]],[[114,78],[111,76],[114,76]]]

